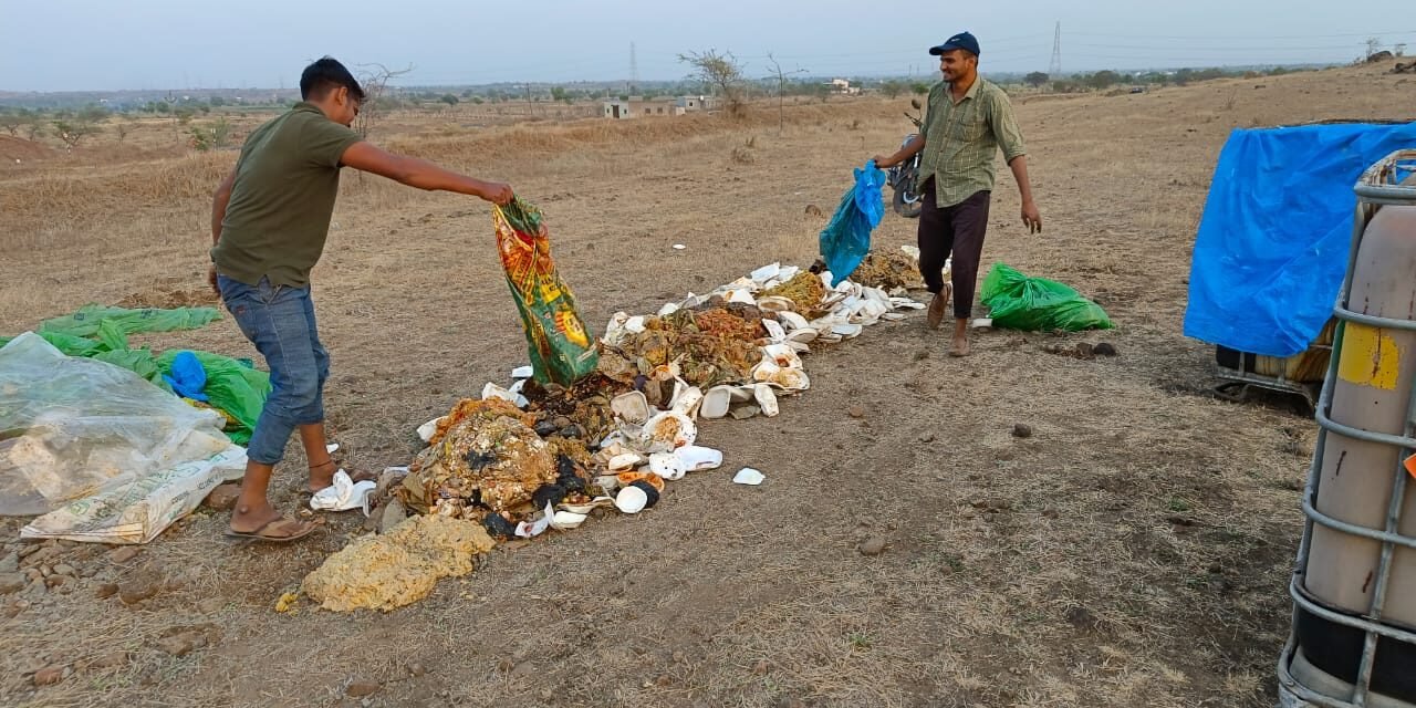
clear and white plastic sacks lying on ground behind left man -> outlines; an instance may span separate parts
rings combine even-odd
[[[65,507],[67,518],[89,524],[147,504],[164,510],[147,521],[161,527],[139,534],[150,539],[176,518],[160,521],[171,508],[190,511],[204,493],[187,497],[239,477],[245,453],[221,428],[215,411],[193,408],[132,371],[65,357],[21,334],[0,348],[0,515]],[[44,524],[45,535],[61,531]]]

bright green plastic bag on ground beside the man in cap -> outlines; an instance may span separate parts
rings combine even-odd
[[[980,299],[991,310],[995,327],[1031,331],[1112,329],[1106,312],[1076,290],[1046,278],[1028,278],[1004,263],[994,263],[988,270]]]

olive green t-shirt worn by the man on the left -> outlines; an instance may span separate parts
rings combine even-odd
[[[304,287],[324,251],[340,190],[340,157],[358,133],[312,103],[255,129],[241,147],[217,272],[241,283]]]

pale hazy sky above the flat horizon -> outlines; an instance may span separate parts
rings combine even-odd
[[[1344,62],[1368,37],[1416,54],[1410,0],[0,0],[0,91],[295,86],[309,59],[412,64],[404,85],[640,79],[677,54],[732,51],[748,76],[933,76],[927,48],[961,30],[983,71],[1065,72]]]

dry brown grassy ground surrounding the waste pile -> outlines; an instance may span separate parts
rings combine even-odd
[[[814,387],[780,418],[705,423],[726,472],[497,551],[389,615],[272,610],[357,532],[350,515],[293,548],[228,545],[210,513],[123,562],[62,545],[79,578],[6,599],[0,702],[360,705],[348,684],[372,681],[368,705],[1270,705],[1314,426],[1281,401],[1206,394],[1211,350],[1180,334],[1194,229],[1231,129],[1392,118],[1412,89],[1341,69],[1024,101],[1046,231],[1024,232],[1001,177],[986,263],[1068,282],[1119,330],[990,333],[960,361],[922,319],[872,329],[810,357]],[[539,202],[598,329],[809,262],[824,218],[806,207],[830,214],[850,169],[898,144],[903,103],[793,108],[784,133],[763,113],[401,125],[384,142]],[[0,170],[0,331],[91,300],[200,302],[207,200],[231,160],[95,146]],[[314,278],[334,439],[360,467],[402,464],[412,428],[503,381],[524,341],[481,204],[347,176],[334,221]],[[913,228],[889,215],[877,241]],[[1100,340],[1120,357],[1044,351]],[[227,320],[144,341],[249,355]],[[1018,422],[1034,435],[1012,438]],[[280,472],[287,508],[302,464]],[[767,483],[731,484],[743,464]],[[872,535],[889,545],[862,556]],[[95,598],[140,575],[163,590]],[[174,657],[160,641],[183,627],[211,641]],[[45,666],[74,673],[35,690]]]

